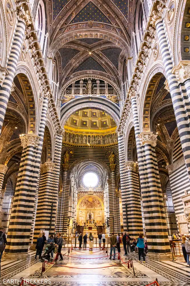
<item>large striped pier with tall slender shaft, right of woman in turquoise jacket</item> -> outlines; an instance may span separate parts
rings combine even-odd
[[[167,236],[166,215],[164,212],[163,199],[161,197],[162,193],[160,193],[162,190],[160,189],[160,184],[158,184],[158,165],[155,165],[155,149],[152,146],[156,140],[151,141],[147,139],[146,141],[143,141],[143,134],[140,134],[135,94],[131,95],[131,104],[138,156],[144,223],[148,241],[148,256],[152,259],[170,259],[171,253]],[[151,137],[152,139],[155,139],[155,136],[150,136],[150,139]]]

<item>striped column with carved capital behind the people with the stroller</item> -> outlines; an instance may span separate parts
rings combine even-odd
[[[49,231],[54,235],[57,193],[54,193],[55,163],[45,162],[40,166],[40,183],[38,191],[38,203],[34,226],[33,244],[36,244],[40,229]],[[58,190],[57,190],[58,191]],[[47,237],[46,237],[47,238]]]

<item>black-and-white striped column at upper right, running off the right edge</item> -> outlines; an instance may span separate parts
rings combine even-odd
[[[156,32],[159,40],[159,47],[162,54],[162,61],[166,70],[166,78],[168,82],[171,100],[177,122],[177,129],[181,140],[187,173],[190,180],[190,128],[189,128],[189,100],[183,90],[179,88],[175,74],[172,74],[173,63],[169,53],[169,47],[166,40],[164,25],[162,19],[159,18],[155,22]],[[189,86],[189,81],[187,83]]]

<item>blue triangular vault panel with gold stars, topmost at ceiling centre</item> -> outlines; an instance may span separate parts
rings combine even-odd
[[[71,23],[73,24],[88,21],[111,24],[107,17],[92,2],[89,2],[83,9],[81,9]]]

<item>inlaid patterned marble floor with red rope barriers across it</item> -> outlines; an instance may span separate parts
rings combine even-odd
[[[21,277],[24,277],[24,279],[48,279],[51,285],[55,286],[145,286],[157,278],[160,286],[190,285],[190,268],[185,267],[185,265],[179,265],[171,261],[157,262],[148,258],[146,258],[145,264],[139,263],[135,253],[125,257],[122,252],[121,257],[123,261],[128,261],[128,259],[132,258],[135,270],[134,275],[132,268],[128,269],[127,265],[121,265],[119,260],[111,261],[109,257],[104,257],[106,254],[103,251],[97,251],[99,249],[94,249],[94,253],[90,253],[88,249],[86,251],[73,249],[69,257],[64,256],[63,261],[57,261],[53,265],[46,264],[46,271],[42,276],[42,263],[36,262],[34,260],[35,252],[31,252],[31,257],[28,261],[3,261],[2,266],[4,266],[1,272],[1,279],[5,279],[4,283],[8,278],[9,280],[20,279]],[[62,249],[62,253],[68,255],[66,249]],[[95,259],[89,259],[92,257]],[[1,281],[0,285],[5,285],[1,284]],[[14,283],[11,285],[18,286],[19,284]],[[47,284],[42,283],[40,285]]]

